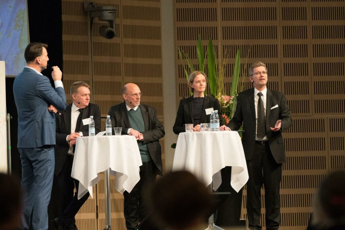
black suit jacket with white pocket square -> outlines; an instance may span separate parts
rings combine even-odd
[[[282,128],[289,128],[292,125],[290,109],[286,103],[286,97],[278,91],[267,89],[266,100],[266,134],[268,137],[269,148],[277,163],[285,162],[284,141],[281,131],[274,132],[270,127],[274,127],[277,120],[282,120]],[[278,105],[278,107],[275,107]],[[254,102],[254,88],[238,94],[237,107],[233,119],[227,126],[231,130],[238,130],[243,122],[242,144],[246,160],[250,160],[254,154],[256,115]]]

